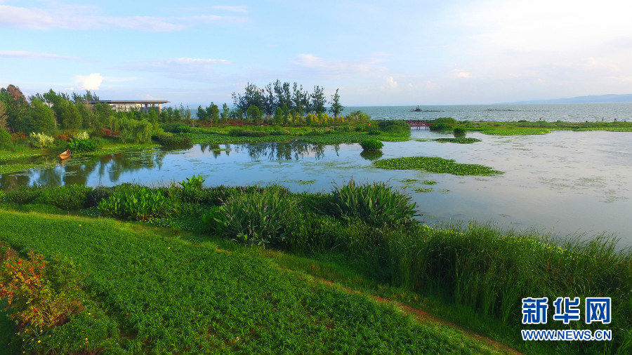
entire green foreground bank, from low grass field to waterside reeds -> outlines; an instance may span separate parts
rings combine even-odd
[[[291,194],[202,182],[7,192],[0,217],[11,223],[0,225],[1,241],[81,264],[88,273],[84,312],[100,315],[86,326],[93,318],[79,313],[44,335],[86,346],[64,338],[86,326],[91,349],[119,352],[492,351],[305,275],[311,274],[424,309],[529,354],[625,354],[632,344],[632,253],[612,238],[552,241],[480,225],[433,229],[411,219],[407,196],[381,183]],[[56,214],[65,210],[145,222]],[[612,297],[609,325],[549,319],[527,328],[610,329],[614,339],[522,342],[523,297],[548,297],[549,310],[555,297]],[[41,340],[32,339],[29,346]]]

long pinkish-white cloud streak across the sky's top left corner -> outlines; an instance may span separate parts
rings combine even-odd
[[[24,8],[0,5],[0,26],[19,29],[109,29],[124,28],[144,32],[179,31],[204,23],[244,22],[244,18],[221,15],[188,17],[107,16],[94,6]]]

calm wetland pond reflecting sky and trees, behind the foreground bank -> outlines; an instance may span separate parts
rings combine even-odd
[[[384,142],[381,155],[357,144],[305,142],[192,145],[103,156],[73,157],[52,168],[0,177],[1,189],[22,185],[123,182],[169,185],[202,175],[205,185],[269,185],[294,192],[329,192],[333,182],[388,181],[412,196],[428,225],[492,222],[505,229],[535,229],[590,238],[614,233],[632,246],[632,133],[554,131],[546,135],[468,133],[474,144],[440,143],[451,135],[412,130],[412,140]],[[439,156],[482,164],[502,175],[456,176],[421,170],[382,170],[374,159]],[[436,182],[428,185],[427,180]]]

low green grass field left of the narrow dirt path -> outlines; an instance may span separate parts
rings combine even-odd
[[[0,229],[14,248],[61,253],[89,273],[89,293],[118,324],[112,352],[496,352],[452,328],[416,322],[392,304],[279,269],[232,243],[195,244],[114,220],[6,211],[0,218],[12,221]]]

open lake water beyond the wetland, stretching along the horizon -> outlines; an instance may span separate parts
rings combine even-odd
[[[604,104],[548,105],[450,105],[420,106],[423,112],[411,112],[416,106],[347,107],[344,114],[360,110],[373,119],[436,119],[452,117],[458,121],[632,121],[632,102]],[[429,111],[426,111],[429,110]]]

